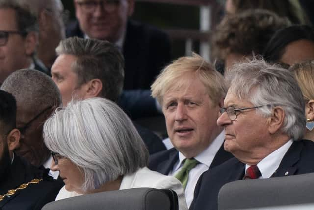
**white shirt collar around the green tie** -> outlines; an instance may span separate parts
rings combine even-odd
[[[225,130],[222,130],[221,133],[212,141],[212,143],[207,147],[204,151],[194,157],[200,163],[210,167],[213,159],[215,158],[218,150],[220,149],[221,145],[225,141]],[[179,151],[179,164],[174,167],[173,171],[178,170],[185,160],[186,157]]]

